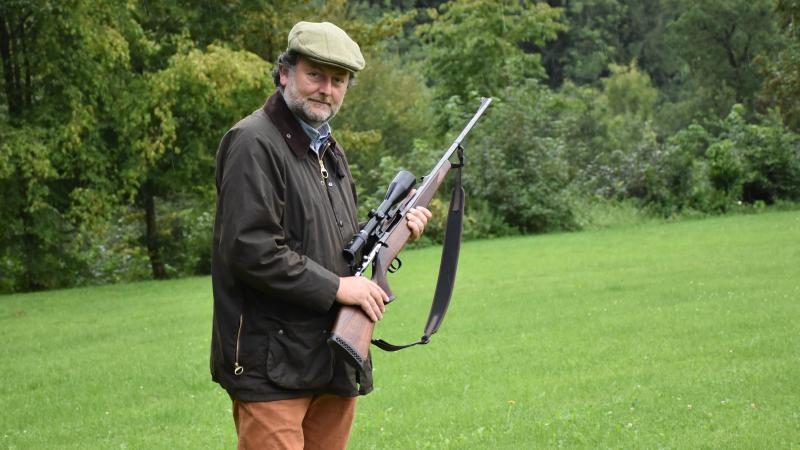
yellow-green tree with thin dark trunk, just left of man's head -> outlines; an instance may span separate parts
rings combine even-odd
[[[166,278],[164,254],[175,230],[159,230],[156,200],[181,196],[213,205],[214,156],[225,131],[255,110],[270,91],[271,66],[258,56],[209,46],[170,59],[131,87],[131,113],[119,124],[130,145],[129,198],[144,211],[145,245],[154,278]],[[173,264],[174,266],[174,264]]]

